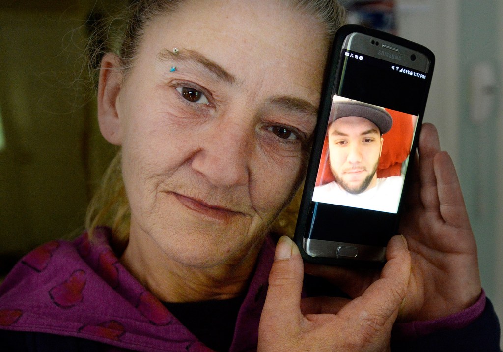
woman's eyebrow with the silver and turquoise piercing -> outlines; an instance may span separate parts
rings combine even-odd
[[[225,69],[215,61],[210,60],[202,53],[196,50],[183,49],[175,54],[172,50],[162,49],[157,54],[157,59],[160,61],[169,61],[171,63],[190,62],[203,66],[207,71],[215,75],[218,79],[227,83],[234,83],[235,77],[229,74]]]

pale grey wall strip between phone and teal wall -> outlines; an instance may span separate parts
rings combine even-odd
[[[435,70],[424,122],[434,123],[443,150],[459,159],[459,1],[396,0],[398,34],[435,53]]]

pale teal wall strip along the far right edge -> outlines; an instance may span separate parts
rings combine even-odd
[[[475,232],[482,285],[503,321],[503,2],[461,1],[460,179]],[[486,62],[494,69],[496,100],[486,121],[469,113],[470,80],[465,72]],[[500,347],[503,348],[503,336]]]

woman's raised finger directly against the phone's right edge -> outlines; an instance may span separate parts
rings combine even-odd
[[[439,199],[437,178],[434,170],[434,158],[440,152],[440,140],[437,129],[425,123],[419,138],[418,154],[421,178],[421,200],[427,210],[437,212]]]

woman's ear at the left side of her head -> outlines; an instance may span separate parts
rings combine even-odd
[[[117,97],[121,90],[122,70],[119,57],[107,53],[101,60],[100,81],[98,83],[98,123],[101,134],[108,142],[122,143],[122,124]]]

